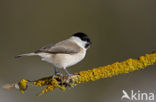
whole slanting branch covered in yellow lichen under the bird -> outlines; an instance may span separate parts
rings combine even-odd
[[[22,79],[18,84],[11,84],[12,87],[19,89],[22,93],[30,86],[47,86],[42,90],[41,94],[44,94],[48,91],[53,91],[56,88],[64,91],[67,87],[74,87],[78,84],[95,81],[101,78],[108,78],[112,76],[116,76],[119,74],[127,74],[132,71],[140,70],[147,68],[147,66],[156,63],[156,52],[146,54],[145,56],[141,56],[138,59],[128,59],[123,62],[115,62],[111,65],[102,66],[98,68],[93,68],[87,71],[80,71],[78,73],[74,73],[72,76],[61,76],[56,75],[52,80],[52,76],[42,78],[39,80],[29,81]],[[4,86],[4,88],[11,86]]]

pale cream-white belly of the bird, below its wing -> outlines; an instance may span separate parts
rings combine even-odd
[[[85,57],[83,54],[55,54],[52,55],[52,63],[57,68],[67,68],[78,62],[80,62]]]

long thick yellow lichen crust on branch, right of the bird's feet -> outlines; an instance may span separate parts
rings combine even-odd
[[[112,65],[94,68],[88,71],[80,71],[80,77],[76,83],[95,81],[101,78],[108,78],[118,74],[126,74],[135,70],[143,69],[156,62],[156,53],[146,54],[138,59],[128,59],[123,62],[116,62]]]

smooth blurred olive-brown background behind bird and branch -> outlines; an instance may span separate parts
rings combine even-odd
[[[39,57],[14,56],[56,43],[75,32],[92,40],[86,58],[71,73],[156,51],[155,0],[0,0],[0,86],[53,73]],[[120,102],[122,90],[154,92],[156,64],[130,74],[81,84],[36,97],[0,88],[0,102]],[[156,99],[155,99],[156,102]]]

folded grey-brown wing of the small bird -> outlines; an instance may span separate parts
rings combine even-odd
[[[41,49],[35,51],[35,53],[45,52],[45,53],[64,53],[64,54],[74,54],[80,51],[80,47],[73,41],[64,40],[56,44],[50,44],[42,47]]]

